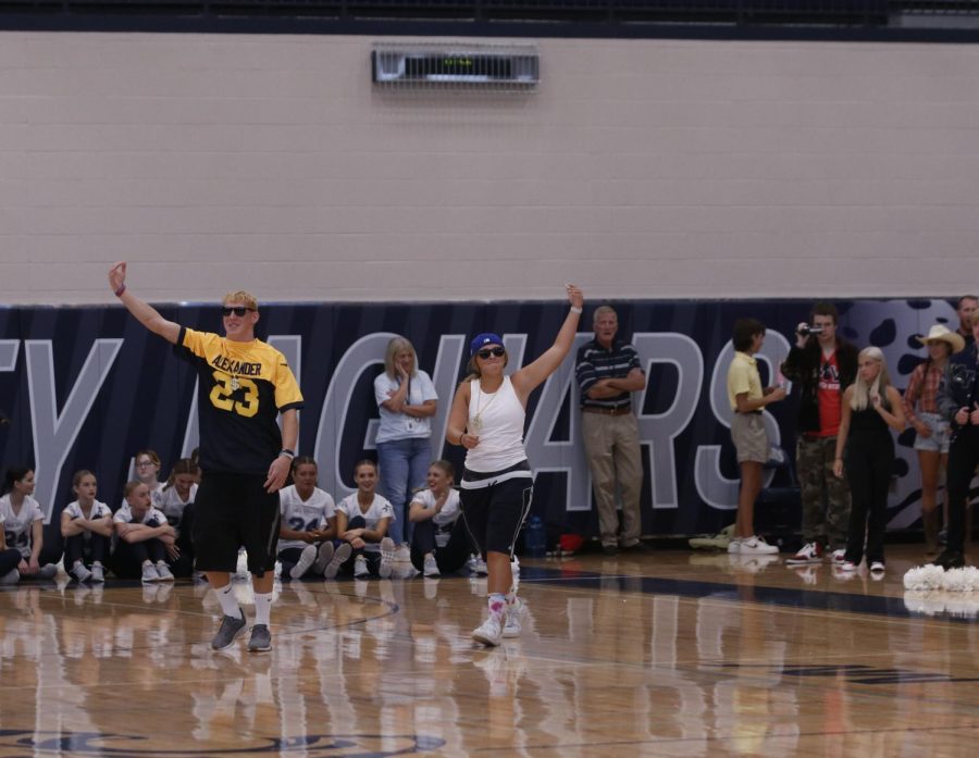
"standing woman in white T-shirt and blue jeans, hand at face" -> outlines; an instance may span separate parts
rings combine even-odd
[[[411,539],[410,527],[404,525],[405,506],[411,493],[425,483],[432,458],[432,417],[438,400],[435,385],[419,370],[414,347],[405,337],[387,343],[384,373],[374,380],[374,399],[381,415],[375,440],[381,475],[377,492],[395,509],[387,536],[396,546],[404,545]]]

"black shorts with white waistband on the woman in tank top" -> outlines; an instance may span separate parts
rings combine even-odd
[[[522,467],[518,464],[494,474],[474,474],[470,471],[462,474],[463,484],[459,490],[462,518],[473,542],[484,555],[487,551],[513,555],[517,535],[534,497],[534,480],[523,474],[524,467],[529,472],[530,467],[524,462]],[[511,479],[495,481],[497,476]],[[487,481],[492,484],[472,487]]]

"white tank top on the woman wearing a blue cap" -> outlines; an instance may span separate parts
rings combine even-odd
[[[508,469],[526,460],[523,448],[523,423],[526,410],[517,397],[510,377],[504,376],[495,393],[480,388],[480,381],[469,383],[469,433],[480,444],[466,452],[466,468],[488,473]]]

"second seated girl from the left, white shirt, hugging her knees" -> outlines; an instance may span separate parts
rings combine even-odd
[[[79,582],[104,582],[104,564],[112,546],[112,510],[96,500],[95,474],[83,469],[72,477],[77,500],[61,511],[64,569]]]

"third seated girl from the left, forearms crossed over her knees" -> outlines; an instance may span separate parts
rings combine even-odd
[[[172,582],[166,556],[175,557],[176,531],[163,511],[150,505],[150,489],[142,482],[127,482],[126,501],[112,521],[119,539],[112,552],[112,573],[121,579]]]

